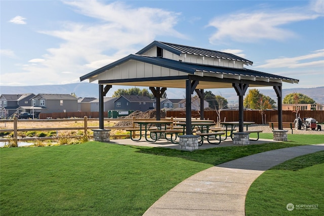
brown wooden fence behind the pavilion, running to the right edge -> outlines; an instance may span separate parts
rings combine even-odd
[[[312,117],[315,118],[318,122],[324,122],[324,111],[318,110],[304,110],[299,111],[298,113],[301,118],[304,117]],[[191,112],[192,117],[200,118],[200,114],[197,111]],[[178,117],[184,118],[186,117],[186,113],[184,111],[167,111],[167,117]],[[217,113],[216,111],[205,111],[204,112],[205,119],[211,119],[215,122],[217,121]],[[267,124],[269,121],[278,121],[278,112],[277,110],[265,110],[264,111],[264,123]],[[283,122],[294,122],[296,117],[296,113],[292,111],[284,110],[282,111],[282,121]],[[238,121],[238,110],[223,110],[221,111],[221,121]],[[244,120],[245,121],[254,121],[257,124],[262,124],[262,116],[260,111],[258,110],[246,110],[244,111]]]

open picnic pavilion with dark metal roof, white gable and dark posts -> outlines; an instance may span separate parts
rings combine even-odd
[[[159,100],[167,88],[186,90],[186,136],[198,139],[191,131],[191,95],[200,98],[204,109],[204,89],[234,88],[239,102],[238,133],[244,131],[243,97],[249,87],[273,87],[277,95],[278,123],[282,130],[282,82],[298,83],[298,79],[247,69],[253,62],[233,54],[153,41],[129,56],[92,71],[80,81],[98,80],[99,128],[103,126],[103,97],[112,85],[149,87],[156,98],[156,118],[160,119]],[[200,116],[204,118],[203,112]],[[180,140],[181,141],[181,140]]]

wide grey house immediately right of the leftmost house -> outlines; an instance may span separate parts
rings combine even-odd
[[[41,108],[42,113],[77,112],[77,98],[69,94],[38,94],[31,100],[34,109]]]

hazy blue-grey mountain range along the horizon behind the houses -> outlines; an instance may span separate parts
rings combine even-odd
[[[112,89],[107,93],[107,97],[111,97],[114,91],[118,89],[128,89],[132,87],[125,87],[121,85],[114,85]],[[148,88],[147,88],[148,89]],[[170,91],[171,90],[171,91]],[[207,90],[205,90],[207,91]],[[229,105],[237,104],[238,98],[234,89],[214,89],[212,91],[215,95],[221,95],[226,98]],[[265,96],[269,96],[273,100],[277,100],[276,94],[273,89],[262,89],[259,88],[259,92]],[[89,82],[79,82],[70,84],[60,85],[29,85],[29,86],[1,86],[1,94],[22,94],[22,93],[34,93],[34,94],[72,94],[74,93],[77,97],[99,97],[98,84]],[[169,99],[183,99],[185,98],[185,90],[183,89],[168,89],[166,91]],[[316,103],[324,104],[324,87],[316,88],[294,88],[294,89],[283,89],[282,98],[291,93],[301,93],[307,95],[316,101]]]

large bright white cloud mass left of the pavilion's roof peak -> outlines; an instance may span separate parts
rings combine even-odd
[[[80,76],[94,69],[136,53],[157,35],[185,37],[174,29],[179,14],[171,11],[132,8],[120,2],[107,5],[101,1],[64,3],[98,21],[66,21],[61,29],[38,31],[64,42],[59,47],[47,49],[47,54],[41,58],[29,61],[37,64],[23,66],[36,84],[45,84],[44,80],[49,84],[77,82]]]

